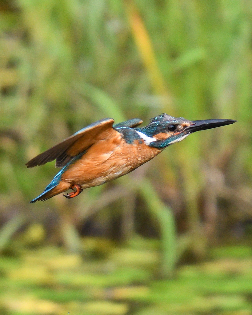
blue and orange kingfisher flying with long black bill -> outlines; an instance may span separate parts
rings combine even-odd
[[[114,122],[112,118],[98,120],[27,162],[30,168],[56,159],[55,167],[62,168],[31,203],[45,201],[68,189],[72,192],[64,196],[74,198],[85,188],[128,174],[195,131],[229,125],[236,120],[190,121],[161,114],[143,128],[137,128],[142,123],[139,118]]]

